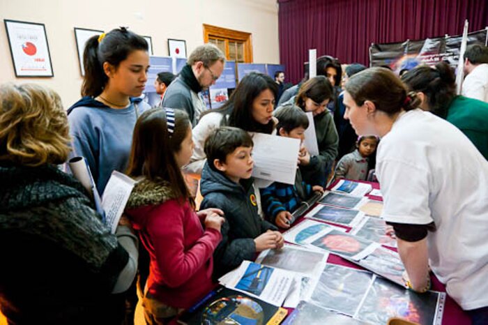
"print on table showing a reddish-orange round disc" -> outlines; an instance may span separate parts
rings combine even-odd
[[[315,239],[312,245],[351,259],[363,259],[379,245],[336,229]]]

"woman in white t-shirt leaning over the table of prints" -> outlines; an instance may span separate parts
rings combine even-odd
[[[487,160],[455,126],[417,109],[386,68],[354,75],[345,89],[344,118],[358,135],[381,137],[382,217],[395,229],[406,285],[429,289],[430,266],[473,324],[488,324]]]

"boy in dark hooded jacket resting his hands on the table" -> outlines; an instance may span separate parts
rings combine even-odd
[[[254,161],[252,139],[240,128],[222,127],[205,142],[207,162],[201,173],[201,208],[224,211],[222,241],[215,250],[214,277],[236,268],[256,252],[281,248],[283,236],[277,228],[259,218],[251,179]]]

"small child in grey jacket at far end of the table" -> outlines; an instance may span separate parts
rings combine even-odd
[[[376,135],[360,135],[356,142],[356,150],[348,153],[337,162],[335,179],[351,179],[366,181],[369,160],[376,153],[379,137]],[[374,168],[374,166],[372,166]]]

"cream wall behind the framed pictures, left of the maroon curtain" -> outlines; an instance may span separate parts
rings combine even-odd
[[[45,24],[54,77],[15,77],[4,19]],[[254,63],[280,63],[276,0],[0,0],[0,20],[0,83],[50,86],[65,107],[79,99],[82,85],[74,27],[130,27],[151,36],[154,55],[167,56],[168,38],[186,40],[190,54],[203,43],[202,24],[211,24],[252,33]]]

